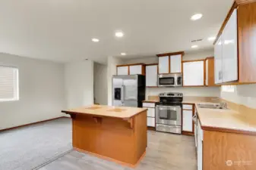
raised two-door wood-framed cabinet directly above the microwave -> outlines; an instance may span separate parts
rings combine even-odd
[[[169,74],[169,73],[182,73],[182,57],[184,52],[157,54],[159,58],[158,73]]]

